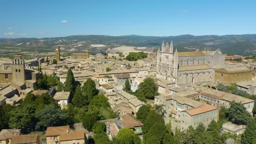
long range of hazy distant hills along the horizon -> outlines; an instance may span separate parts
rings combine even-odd
[[[105,51],[120,45],[136,47],[159,47],[162,40],[170,43],[173,40],[174,47],[178,51],[203,50],[204,47],[211,47],[213,50],[220,49],[223,53],[234,53],[238,55],[256,53],[256,34],[243,35],[178,35],[170,37],[151,37],[141,35],[72,35],[57,38],[17,38],[0,39],[1,50],[22,50],[22,51],[53,51],[55,45],[61,45],[64,51],[82,52],[88,48],[92,51]],[[91,44],[101,44],[102,47],[92,47]]]

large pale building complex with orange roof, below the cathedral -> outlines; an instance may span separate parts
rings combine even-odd
[[[196,128],[200,122],[207,126],[212,120],[217,122],[219,118],[218,107],[176,94],[157,96],[155,104],[164,105],[167,116],[171,114],[181,121],[181,130],[187,130],[190,125]]]

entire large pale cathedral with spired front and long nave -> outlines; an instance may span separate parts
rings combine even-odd
[[[202,85],[214,82],[214,67],[224,65],[224,55],[218,49],[211,51],[173,52],[173,43],[162,43],[158,50],[156,77],[166,86],[185,87],[189,83]]]

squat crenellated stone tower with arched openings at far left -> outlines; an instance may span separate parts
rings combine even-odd
[[[11,71],[13,73],[13,82],[25,83],[25,62],[21,56],[14,56]]]

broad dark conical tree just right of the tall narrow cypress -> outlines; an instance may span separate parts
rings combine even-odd
[[[87,79],[83,86],[84,95],[90,102],[92,98],[97,94],[95,82],[92,79]]]

